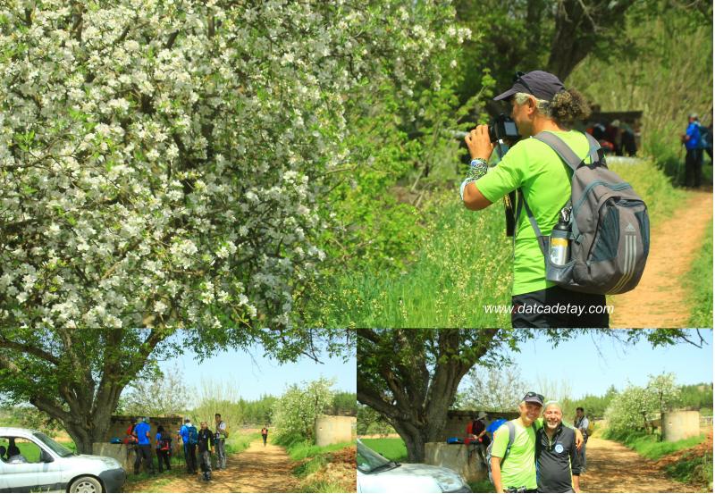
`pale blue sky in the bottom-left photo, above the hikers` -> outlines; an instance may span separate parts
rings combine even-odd
[[[350,357],[321,358],[323,364],[316,364],[308,358],[301,358],[294,364],[279,364],[276,360],[263,356],[259,347],[248,351],[227,351],[217,353],[210,359],[198,363],[192,356],[184,355],[160,363],[163,371],[177,366],[184,379],[195,388],[202,380],[216,384],[228,383],[237,389],[240,398],[255,400],[261,395],[280,396],[290,384],[315,381],[321,377],[335,378],[336,391],[356,391],[356,361]]]

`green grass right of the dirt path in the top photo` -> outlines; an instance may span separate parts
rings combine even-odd
[[[686,276],[691,290],[688,327],[712,327],[712,222],[705,241]]]

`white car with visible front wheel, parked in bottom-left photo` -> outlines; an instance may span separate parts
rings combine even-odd
[[[126,479],[114,458],[75,455],[42,432],[0,427],[0,492],[121,492]]]

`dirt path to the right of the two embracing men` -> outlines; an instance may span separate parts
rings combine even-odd
[[[669,480],[655,462],[612,440],[588,440],[586,465],[584,492],[702,492]]]

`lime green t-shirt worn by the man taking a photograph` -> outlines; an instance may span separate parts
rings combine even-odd
[[[576,155],[588,155],[588,141],[582,132],[569,130],[553,133],[566,142]],[[521,188],[542,235],[550,235],[559,211],[571,197],[571,169],[547,144],[527,138],[509,149],[501,163],[477,180],[475,185],[492,203],[500,201],[501,197],[512,190]],[[546,280],[543,254],[526,211],[522,208],[517,218],[514,287],[511,293],[521,295],[553,285]]]

